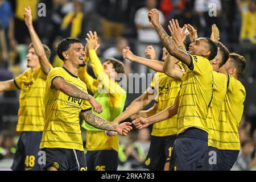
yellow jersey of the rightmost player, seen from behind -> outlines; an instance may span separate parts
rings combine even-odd
[[[220,150],[240,150],[238,127],[246,92],[242,83],[229,75],[229,86],[220,113]]]

